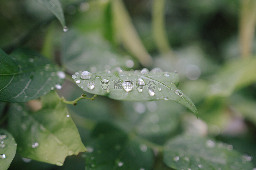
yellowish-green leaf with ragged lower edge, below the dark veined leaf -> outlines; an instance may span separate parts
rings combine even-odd
[[[63,165],[68,155],[86,151],[67,108],[52,91],[43,96],[43,109],[28,112],[20,105],[9,111],[9,129],[22,157]]]

